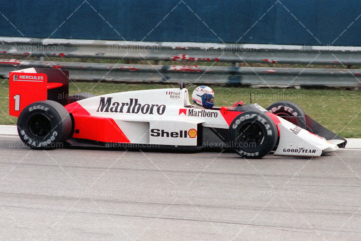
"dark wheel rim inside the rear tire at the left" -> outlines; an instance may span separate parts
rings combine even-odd
[[[44,139],[51,131],[51,123],[48,117],[42,114],[35,114],[27,122],[29,134],[35,139]]]

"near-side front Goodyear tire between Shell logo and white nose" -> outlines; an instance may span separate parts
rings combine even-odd
[[[273,150],[278,139],[274,121],[265,112],[245,111],[228,130],[230,143],[243,158],[262,158]]]

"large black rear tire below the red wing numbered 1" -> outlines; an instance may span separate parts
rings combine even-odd
[[[51,150],[62,147],[71,135],[69,112],[61,104],[43,100],[25,107],[19,115],[20,139],[31,149]]]

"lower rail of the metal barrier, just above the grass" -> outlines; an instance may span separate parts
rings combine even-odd
[[[7,61],[7,63],[6,63]],[[358,69],[300,69],[264,67],[130,65],[76,62],[0,60],[0,75],[30,67],[69,70],[72,80],[153,83],[213,83],[256,86],[361,87]]]

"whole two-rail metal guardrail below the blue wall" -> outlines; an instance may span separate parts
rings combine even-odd
[[[0,74],[32,66],[64,68],[72,79],[106,81],[232,83],[242,85],[360,87],[358,69],[126,65],[50,61],[49,57],[119,60],[361,65],[361,47],[264,44],[153,43],[0,37],[1,55],[40,60],[0,60]],[[48,60],[48,61],[47,61]],[[7,74],[6,74],[7,73]]]

